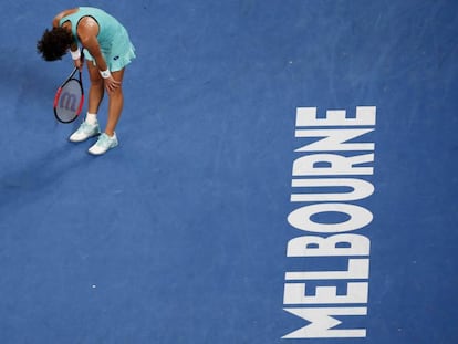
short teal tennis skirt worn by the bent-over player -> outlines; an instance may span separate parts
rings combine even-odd
[[[110,44],[101,43],[101,52],[111,72],[121,71],[135,59],[135,46],[132,44],[127,30],[124,28],[114,35]],[[94,58],[86,49],[84,50],[84,58],[96,65]]]

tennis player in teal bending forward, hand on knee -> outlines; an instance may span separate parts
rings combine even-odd
[[[69,139],[79,143],[101,134],[97,113],[106,90],[105,132],[89,149],[93,155],[102,155],[118,145],[115,129],[124,104],[122,82],[126,65],[135,59],[135,48],[126,29],[114,17],[101,9],[80,7],[59,13],[52,29],[46,29],[38,41],[37,49],[45,61],[61,60],[70,51],[74,65],[82,69],[80,45],[84,48],[91,87],[85,121]]]

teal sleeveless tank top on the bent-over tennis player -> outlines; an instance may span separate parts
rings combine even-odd
[[[92,7],[80,7],[79,11],[63,17],[59,21],[60,27],[62,27],[62,24],[66,21],[70,21],[72,23],[72,33],[75,37],[77,43],[80,43],[80,40],[77,38],[76,27],[83,17],[92,17],[97,22],[97,40],[102,50],[108,50],[112,45],[113,40],[116,38],[116,34],[125,30],[124,27],[114,17],[110,15],[105,11]]]

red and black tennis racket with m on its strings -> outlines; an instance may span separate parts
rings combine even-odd
[[[83,53],[81,54],[83,59]],[[75,74],[77,72],[77,77]],[[81,71],[74,67],[70,76],[58,88],[54,96],[54,116],[61,123],[72,123],[81,114],[84,90]]]

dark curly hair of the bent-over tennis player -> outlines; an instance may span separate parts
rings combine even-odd
[[[66,29],[60,27],[46,29],[37,43],[37,51],[45,61],[61,60],[73,41],[72,33]]]

